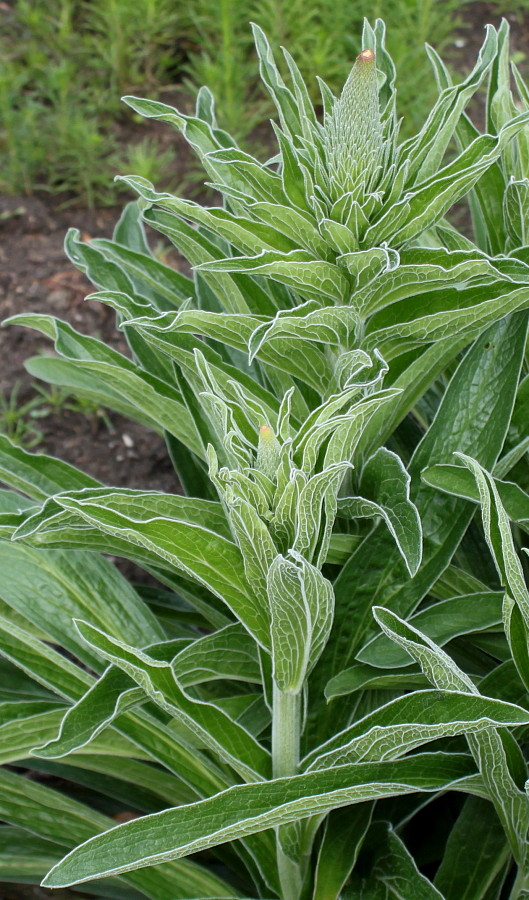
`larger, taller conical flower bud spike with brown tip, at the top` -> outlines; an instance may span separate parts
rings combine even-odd
[[[369,193],[384,146],[376,59],[362,50],[325,125],[331,199]]]

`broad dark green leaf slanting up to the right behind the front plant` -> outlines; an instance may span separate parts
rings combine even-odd
[[[339,600],[326,651],[329,668],[325,683],[344,664],[350,664],[349,660],[358,652],[372,627],[371,609],[378,602],[377,598],[385,598],[386,605],[408,615],[450,563],[473,509],[457,499],[447,504],[446,496],[419,484],[418,475],[428,464],[451,462],[454,450],[458,449],[474,453],[485,465],[494,464],[510,420],[526,333],[525,315],[506,317],[479,338],[461,360],[435,420],[408,467],[412,479],[417,478],[412,497],[423,528],[423,564],[410,580],[385,525],[378,526],[376,532],[358,546],[334,584]],[[442,356],[445,352],[441,346],[434,349],[434,356]],[[424,365],[431,361],[432,357],[427,357]],[[413,367],[410,375],[412,373]],[[415,389],[413,393],[418,396]],[[400,397],[394,401],[395,405],[399,403]],[[395,407],[388,404],[382,409],[388,411],[391,420]],[[381,432],[387,433],[386,423],[382,416],[375,416],[373,425],[375,422],[378,443]],[[389,433],[394,425],[393,420]]]

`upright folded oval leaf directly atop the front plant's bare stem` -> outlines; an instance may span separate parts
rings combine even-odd
[[[321,572],[299,553],[276,556],[268,572],[273,675],[297,694],[323,650],[332,626],[334,594]]]

